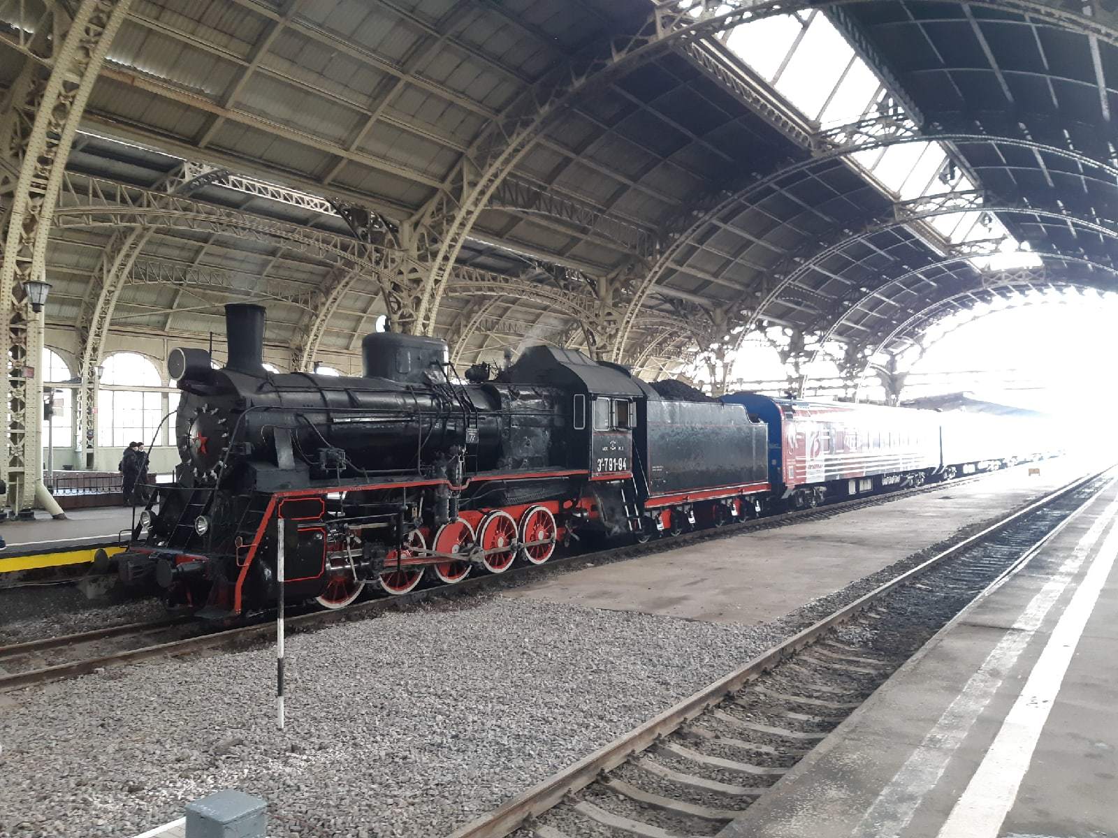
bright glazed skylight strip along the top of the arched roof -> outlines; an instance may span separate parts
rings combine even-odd
[[[719,10],[729,11],[730,7]],[[761,18],[730,30],[724,42],[765,82],[821,128],[872,116],[888,92],[846,38],[819,11]],[[964,172],[945,175],[948,161],[936,142],[909,142],[851,155],[900,200],[976,188]],[[983,270],[1006,270],[1041,264],[993,215],[980,210],[927,219],[947,241],[988,241],[988,256],[970,259]]]

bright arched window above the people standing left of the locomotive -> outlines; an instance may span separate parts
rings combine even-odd
[[[165,423],[160,429],[165,411],[163,378],[155,364],[135,352],[117,352],[105,359],[101,385],[97,391],[100,445],[113,448],[123,448],[133,441],[165,445]]]

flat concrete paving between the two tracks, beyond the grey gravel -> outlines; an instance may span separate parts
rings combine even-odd
[[[1036,499],[1092,466],[1045,460],[1034,464],[1039,476],[1017,466],[826,521],[562,573],[504,596],[711,622],[767,622]],[[632,572],[620,572],[625,566]]]

